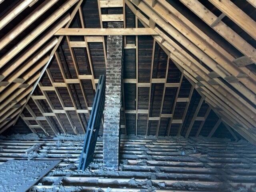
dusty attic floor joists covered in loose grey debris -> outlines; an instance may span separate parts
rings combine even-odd
[[[115,171],[102,165],[99,137],[94,161],[81,172],[77,168],[83,140],[84,135],[72,134],[1,136],[0,164],[12,159],[61,160],[31,192],[256,191],[256,146],[244,140],[122,135]]]

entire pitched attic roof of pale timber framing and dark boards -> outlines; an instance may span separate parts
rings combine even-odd
[[[0,19],[1,32],[7,31],[0,39],[0,132],[21,117],[35,133],[85,133],[98,76],[105,70],[104,36],[122,34],[125,56],[135,58],[134,66],[124,66],[123,133],[198,136],[213,113],[216,120],[204,135],[214,135],[224,124],[234,138],[231,128],[255,144],[256,22],[249,14],[256,4],[244,2],[243,7],[230,0],[10,5]],[[124,22],[124,28],[105,28],[110,21]],[[176,81],[170,80],[172,69],[179,71]],[[167,110],[168,95],[174,99]]]

